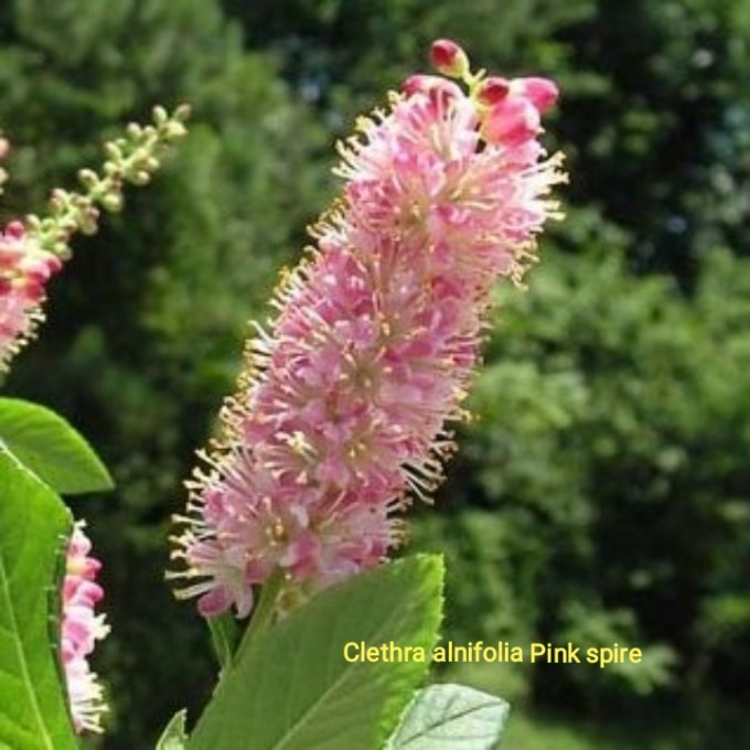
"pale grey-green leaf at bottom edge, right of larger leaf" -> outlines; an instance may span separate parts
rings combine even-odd
[[[404,712],[386,750],[491,750],[497,747],[510,706],[463,685],[430,685]]]

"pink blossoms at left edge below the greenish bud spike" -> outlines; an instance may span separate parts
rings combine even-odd
[[[0,372],[42,320],[46,283],[62,266],[42,250],[21,222],[0,232]]]

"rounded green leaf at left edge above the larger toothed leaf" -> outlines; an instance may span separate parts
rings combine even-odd
[[[84,438],[43,406],[0,398],[0,443],[55,492],[79,494],[114,486]]]

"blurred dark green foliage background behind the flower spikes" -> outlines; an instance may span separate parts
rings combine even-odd
[[[571,172],[528,292],[499,291],[478,420],[437,510],[417,508],[417,545],[450,559],[444,634],[645,656],[439,677],[593,721],[657,722],[669,701],[688,717],[679,739],[638,744],[732,747],[712,728],[750,672],[750,6],[9,0],[6,217],[71,184],[152,104],[195,110],[154,185],[77,243],[9,383],[71,418],[118,481],[74,508],[107,560],[107,747],[148,747],[210,689],[201,623],[161,582],[181,480],[232,390],[245,321],[266,314],[335,189],[334,136],[425,69],[436,36],[488,68],[555,77],[548,142]]]

